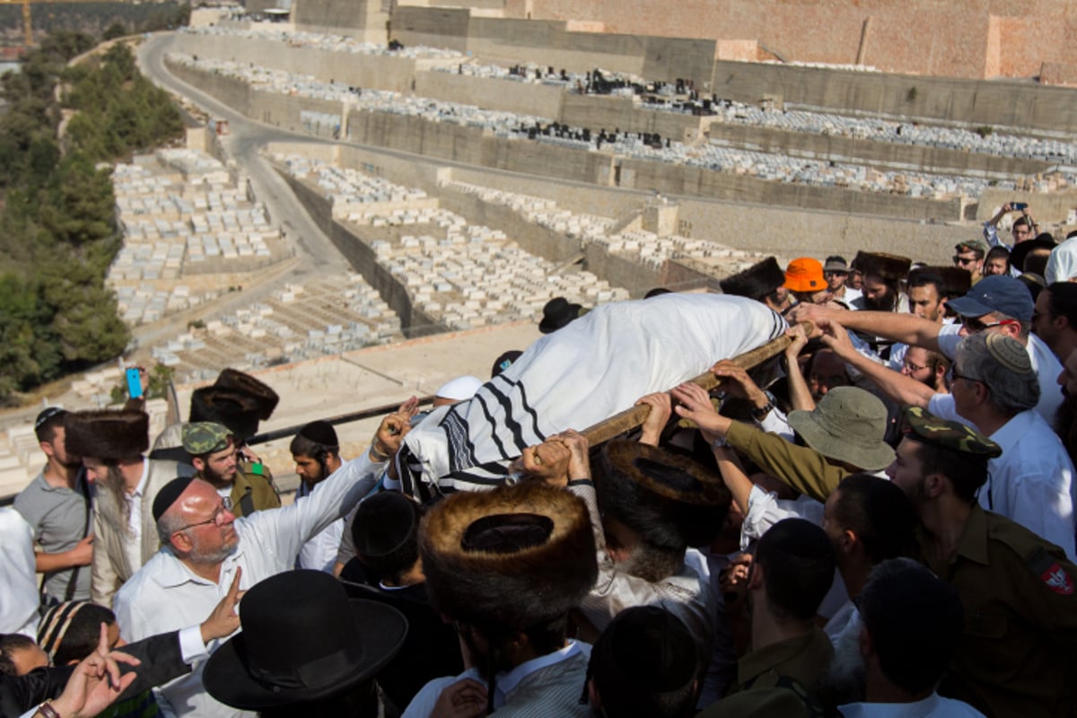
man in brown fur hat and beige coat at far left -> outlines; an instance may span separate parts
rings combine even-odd
[[[111,607],[116,590],[160,547],[150,512],[157,491],[195,473],[174,461],[145,459],[149,432],[144,411],[76,411],[67,418],[67,450],[82,456],[86,477],[97,485],[90,597],[101,606]]]

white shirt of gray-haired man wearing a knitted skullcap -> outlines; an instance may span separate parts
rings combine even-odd
[[[952,394],[936,394],[927,404],[936,417],[973,426],[954,408]],[[974,426],[975,428],[975,426]],[[1017,521],[1075,560],[1074,465],[1044,418],[1030,409],[989,437],[1003,453],[988,462],[980,506]]]

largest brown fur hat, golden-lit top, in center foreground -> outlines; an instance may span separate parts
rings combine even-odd
[[[419,553],[431,604],[479,627],[549,623],[598,578],[587,507],[540,482],[449,496],[423,518]]]

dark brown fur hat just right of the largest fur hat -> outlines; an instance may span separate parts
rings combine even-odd
[[[700,464],[638,441],[610,441],[595,481],[603,513],[668,550],[713,541],[732,499]]]

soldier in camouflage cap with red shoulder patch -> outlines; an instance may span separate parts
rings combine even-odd
[[[965,608],[939,693],[989,716],[1073,716],[1077,566],[1058,546],[979,506],[988,460],[1001,453],[964,424],[913,407],[887,469],[920,516],[920,561]]]

